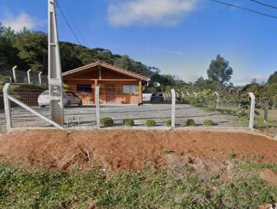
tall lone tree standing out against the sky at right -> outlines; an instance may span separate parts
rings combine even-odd
[[[224,57],[217,55],[216,59],[211,61],[207,74],[208,79],[215,84],[215,89],[219,91],[227,82],[231,80],[233,69],[229,66],[228,60],[225,60]]]

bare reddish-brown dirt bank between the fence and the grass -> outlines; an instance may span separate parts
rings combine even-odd
[[[226,131],[19,131],[4,134],[0,144],[3,159],[63,170],[96,166],[141,170],[181,161],[201,173],[201,170],[211,167],[212,161],[226,165],[228,171],[230,158],[235,155],[277,161],[277,141]],[[173,157],[168,158],[169,155]]]

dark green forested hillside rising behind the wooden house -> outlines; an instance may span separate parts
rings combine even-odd
[[[41,31],[22,30],[15,33],[0,23],[0,74],[17,65],[19,70],[48,71],[48,37]],[[88,48],[60,42],[62,72],[102,60],[123,69],[140,73],[161,82],[163,87],[184,84],[173,75],[161,75],[160,70],[132,60],[128,55],[115,55],[104,48]]]

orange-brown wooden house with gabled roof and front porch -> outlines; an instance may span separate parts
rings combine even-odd
[[[139,104],[142,87],[150,78],[106,62],[94,62],[62,73],[64,84],[82,98],[82,104],[95,104],[95,87],[100,87],[102,104]]]

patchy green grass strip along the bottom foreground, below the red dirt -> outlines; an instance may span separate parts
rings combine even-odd
[[[238,163],[234,181],[174,179],[166,169],[141,172],[54,172],[0,164],[0,208],[257,208],[277,200],[258,177],[277,165]],[[193,170],[192,170],[193,172]]]

